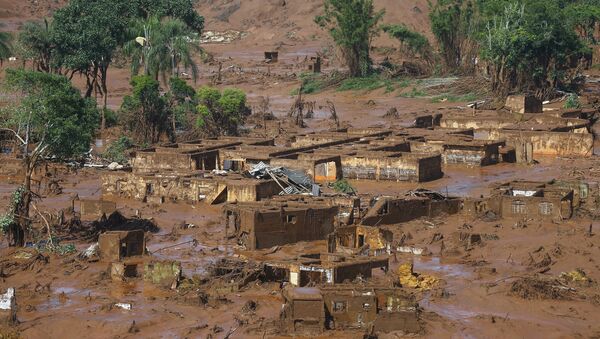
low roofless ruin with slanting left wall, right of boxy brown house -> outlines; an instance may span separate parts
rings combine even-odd
[[[362,225],[380,226],[408,222],[418,218],[435,218],[457,214],[462,210],[462,199],[417,190],[403,197],[379,197],[365,217]]]

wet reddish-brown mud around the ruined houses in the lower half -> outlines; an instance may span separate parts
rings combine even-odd
[[[504,166],[485,169],[447,169],[445,178],[425,186],[448,186],[459,195],[484,194],[488,184],[511,178],[546,180],[569,178],[574,173],[589,180],[596,160],[548,159],[531,167]],[[37,203],[38,209],[64,208],[74,194],[80,198],[99,197],[99,170],[84,169],[65,176],[63,193]],[[592,176],[590,176],[592,175]],[[417,185],[352,182],[361,193],[399,193]],[[13,184],[0,185],[0,202],[7,204]],[[275,253],[241,251],[233,240],[224,238],[225,226],[220,206],[148,206],[141,202],[117,201],[125,215],[152,218],[161,231],[148,235],[147,246],[159,259],[179,260],[184,275],[202,275],[208,265],[225,257],[276,259],[282,255],[326,251],[324,242],[283,246]],[[187,223],[194,228],[181,229]],[[590,225],[592,234],[589,233]],[[414,262],[415,271],[442,280],[429,292],[420,294],[424,337],[593,337],[600,334],[598,307],[600,294],[600,255],[596,229],[600,223],[577,216],[562,223],[526,220],[473,220],[464,216],[417,220],[387,226],[404,245],[424,248],[424,255],[397,253],[387,276],[377,272],[375,279],[396,279],[401,263]],[[465,248],[457,234],[478,233],[480,244]],[[600,232],[600,231],[598,231]],[[440,236],[441,235],[441,236]],[[192,244],[190,240],[197,240]],[[75,241],[78,251],[91,243]],[[178,245],[181,244],[181,245]],[[175,246],[174,246],[175,245]],[[161,250],[166,248],[164,250]],[[252,283],[226,300],[205,305],[197,298],[177,291],[161,290],[141,279],[113,282],[107,263],[88,262],[76,254],[44,255],[26,258],[24,250],[1,250],[2,288],[15,287],[19,305],[16,327],[23,337],[276,337],[276,324],[282,299],[279,284]],[[547,259],[549,257],[550,259]],[[14,266],[14,264],[20,264]],[[513,283],[534,271],[548,279],[563,272],[581,269],[589,283],[569,285],[560,299],[526,299],[513,290]],[[554,298],[554,297],[553,297]],[[248,301],[256,309],[244,308]],[[131,310],[114,307],[131,303]],[[401,334],[398,334],[401,336]],[[358,332],[333,332],[324,336],[362,337]],[[383,336],[385,337],[385,336]],[[391,336],[393,337],[393,335]]]

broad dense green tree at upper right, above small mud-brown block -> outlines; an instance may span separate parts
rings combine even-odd
[[[568,27],[558,1],[525,0],[506,5],[481,39],[481,56],[491,68],[493,89],[534,92],[547,98],[564,82],[565,71],[585,46]]]

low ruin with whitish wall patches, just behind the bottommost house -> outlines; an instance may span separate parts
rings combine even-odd
[[[369,279],[374,269],[387,271],[388,256],[346,256],[334,253],[305,254],[292,260],[265,263],[275,280],[289,281],[294,286],[340,284],[357,278]]]

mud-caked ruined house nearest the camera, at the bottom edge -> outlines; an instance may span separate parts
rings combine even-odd
[[[286,288],[282,293],[281,318],[288,332],[360,329],[416,333],[421,329],[416,298],[401,288],[337,285]]]

